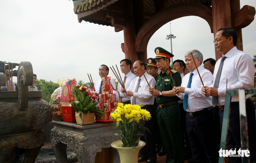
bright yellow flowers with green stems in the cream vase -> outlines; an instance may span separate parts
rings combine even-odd
[[[122,138],[122,147],[135,148],[143,133],[149,132],[148,128],[144,127],[144,123],[151,118],[151,115],[146,109],[141,109],[139,105],[123,105],[119,102],[110,117],[114,120],[114,126],[119,132],[115,135]]]

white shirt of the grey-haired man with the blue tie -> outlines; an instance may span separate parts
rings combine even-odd
[[[197,69],[198,69],[200,76],[203,80],[203,84],[205,86],[211,85],[213,83],[212,73],[209,70],[202,68],[201,66],[199,66]],[[197,112],[204,108],[213,106],[211,104],[212,97],[211,96],[206,97],[201,91],[201,88],[203,85],[202,85],[201,79],[200,79],[196,69],[193,71],[194,75],[192,76],[191,88],[187,88],[190,73],[191,72],[189,72],[187,75],[185,75],[183,77],[182,83],[181,83],[181,86],[185,87],[184,92],[186,94],[188,94],[188,108],[186,111],[187,112]],[[184,93],[179,93],[176,95],[181,99],[184,98]]]

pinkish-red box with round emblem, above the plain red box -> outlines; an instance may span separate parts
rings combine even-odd
[[[71,94],[71,90],[74,89],[76,80],[68,80],[62,83],[62,102],[70,102],[74,99],[74,96]]]

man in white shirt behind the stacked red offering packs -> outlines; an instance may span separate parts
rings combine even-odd
[[[99,68],[99,76],[100,76],[100,80],[97,80],[95,83],[94,83],[94,88],[95,88],[95,92],[99,92],[99,93],[95,93],[95,94],[101,94],[101,86],[102,86],[102,78],[104,77],[105,74],[108,75],[108,72],[109,72],[109,68],[107,65],[105,64],[102,64],[100,65],[100,68]],[[106,76],[106,75],[105,75]],[[116,84],[115,84],[115,81],[113,79],[111,79],[111,84],[113,85],[113,89],[116,89]]]

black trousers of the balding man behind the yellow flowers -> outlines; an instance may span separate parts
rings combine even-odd
[[[155,108],[153,105],[146,105],[141,108],[146,109],[151,114],[151,119],[146,121],[146,123],[144,124],[144,126],[149,129],[151,134],[149,132],[144,132],[144,136],[141,137],[140,139],[146,142],[146,146],[144,146],[140,150],[140,157],[147,157],[148,160],[156,161],[156,144],[155,144],[155,137],[154,137],[154,133],[155,133],[154,126],[155,126],[155,123],[157,123],[157,121],[154,115]]]

